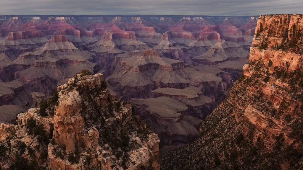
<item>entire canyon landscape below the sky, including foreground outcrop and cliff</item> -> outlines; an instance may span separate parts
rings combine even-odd
[[[300,14],[1,21],[2,169],[303,167]]]

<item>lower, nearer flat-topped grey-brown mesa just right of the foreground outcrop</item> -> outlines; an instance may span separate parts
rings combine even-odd
[[[201,120],[188,115],[188,107],[175,99],[132,99],[131,103],[135,113],[158,134],[161,150],[177,148],[198,136]]]

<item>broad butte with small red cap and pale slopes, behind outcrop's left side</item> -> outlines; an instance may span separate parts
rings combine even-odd
[[[55,35],[36,51],[3,64],[7,69],[16,70],[13,75],[6,76],[20,80],[26,89],[52,95],[59,81],[72,77],[81,70],[93,73],[98,67],[91,62],[93,57],[92,53],[79,51],[66,36]]]

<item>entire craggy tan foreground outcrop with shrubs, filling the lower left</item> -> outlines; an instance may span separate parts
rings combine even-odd
[[[158,136],[109,94],[102,74],[79,74],[57,90],[45,117],[30,109],[18,125],[1,124],[2,169],[160,169]]]

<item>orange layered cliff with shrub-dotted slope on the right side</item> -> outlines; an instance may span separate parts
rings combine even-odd
[[[301,21],[260,16],[244,74],[202,122],[196,142],[161,154],[162,169],[303,167]]]

